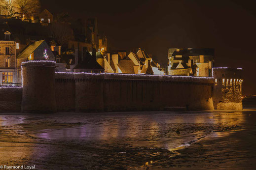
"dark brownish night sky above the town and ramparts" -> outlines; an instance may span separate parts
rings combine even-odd
[[[96,16],[111,48],[143,48],[161,64],[169,48],[215,48],[216,67],[242,67],[256,94],[256,0],[41,0],[53,14]]]

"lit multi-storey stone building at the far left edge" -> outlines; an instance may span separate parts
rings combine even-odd
[[[2,31],[3,30],[3,31]],[[19,48],[11,33],[0,31],[0,85],[16,83],[16,48]]]

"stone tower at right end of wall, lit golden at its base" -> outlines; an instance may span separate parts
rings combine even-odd
[[[213,102],[216,110],[243,110],[242,69],[213,68]]]

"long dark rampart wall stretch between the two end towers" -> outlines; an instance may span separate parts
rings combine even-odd
[[[183,76],[55,73],[60,112],[213,109],[213,79]]]

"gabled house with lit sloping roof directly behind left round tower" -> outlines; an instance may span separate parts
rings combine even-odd
[[[17,80],[21,83],[21,63],[26,60],[51,60],[56,58],[45,40],[28,45],[17,57]]]

